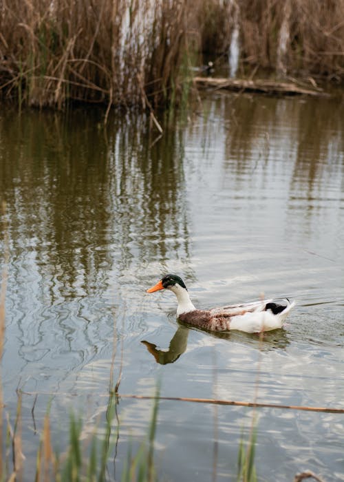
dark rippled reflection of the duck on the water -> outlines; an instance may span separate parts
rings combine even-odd
[[[156,348],[155,344],[145,340],[141,343],[144,344],[149,353],[153,355],[155,362],[159,363],[160,365],[167,365],[169,363],[176,362],[180,355],[186,351],[190,330],[202,331],[202,333],[204,333],[204,330],[199,330],[194,326],[190,326],[190,328],[188,328],[187,326],[180,325],[171,339],[168,350],[160,350],[160,348]],[[228,339],[228,341],[230,340],[231,342],[246,344],[251,348],[257,348],[261,351],[276,349],[283,350],[290,343],[288,334],[283,329],[267,331],[261,333],[260,335],[240,331],[231,331],[230,333],[206,331],[206,333],[215,338]]]

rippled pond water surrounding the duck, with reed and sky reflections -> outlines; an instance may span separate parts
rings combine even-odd
[[[161,121],[161,137],[145,116],[102,122],[89,108],[0,114],[3,416],[14,423],[21,393],[23,479],[48,404],[61,450],[72,410],[85,439],[103,430],[111,383],[122,395],[160,384],[162,397],[343,409],[343,103],[217,94]],[[262,295],[297,306],[263,339],[214,336],[178,325],[172,293],[146,293],[169,272],[197,306]],[[120,397],[109,480],[147,436],[152,407]],[[259,480],[312,470],[344,481],[344,415],[168,400],[159,479],[235,481],[252,419]]]

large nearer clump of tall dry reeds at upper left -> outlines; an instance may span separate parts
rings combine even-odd
[[[3,0],[1,85],[34,106],[169,101],[184,59],[188,3]]]

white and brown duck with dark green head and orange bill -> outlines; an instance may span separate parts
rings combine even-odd
[[[295,302],[288,298],[277,303],[274,300],[259,300],[244,304],[231,304],[219,308],[200,310],[195,308],[184,281],[178,275],[167,274],[147,293],[160,290],[172,291],[177,297],[177,317],[184,324],[206,331],[238,330],[246,333],[261,333],[282,328]]]

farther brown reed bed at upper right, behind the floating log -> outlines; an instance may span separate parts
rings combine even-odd
[[[344,0],[204,0],[200,11],[212,59],[230,54],[239,34],[239,75],[262,68],[343,83]]]

